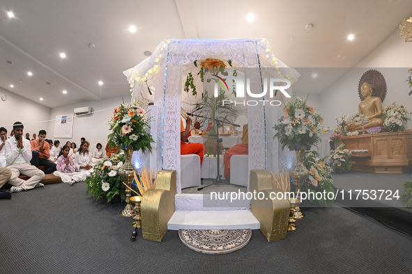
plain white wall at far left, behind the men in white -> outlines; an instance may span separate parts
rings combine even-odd
[[[7,134],[10,135],[15,122],[24,124],[24,135],[29,133],[30,136],[38,134],[40,129],[49,129],[50,108],[37,104],[29,99],[16,95],[13,92],[0,88],[1,95],[6,95],[7,100],[0,100],[0,127],[6,127]],[[49,134],[47,132],[47,134]],[[24,136],[25,137],[25,136]]]

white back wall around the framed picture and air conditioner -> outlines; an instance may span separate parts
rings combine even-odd
[[[123,96],[126,104],[130,103],[131,98],[131,96]],[[114,97],[102,101],[89,101],[52,108],[49,115],[50,120],[55,119],[56,115],[73,113],[75,108],[84,106],[91,106],[94,112],[92,115],[75,117],[73,121],[73,138],[54,138],[54,122],[50,122],[47,136],[52,140],[58,139],[61,145],[66,144],[70,140],[70,142],[76,143],[77,148],[79,148],[80,138],[84,137],[90,142],[91,151],[96,148],[97,143],[101,143],[104,149],[107,143],[107,135],[110,134],[109,125],[106,122],[112,117],[114,108],[123,104],[123,99],[122,97]],[[106,108],[109,109],[100,111]]]

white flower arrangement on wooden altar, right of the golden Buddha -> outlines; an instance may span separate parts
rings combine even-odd
[[[404,106],[397,106],[396,103],[393,103],[390,106],[383,108],[382,115],[385,118],[383,127],[388,129],[388,131],[395,132],[405,130],[403,122],[408,121],[409,118],[406,117],[408,111],[406,111]]]

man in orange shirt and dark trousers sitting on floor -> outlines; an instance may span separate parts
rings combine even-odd
[[[31,141],[31,161],[33,166],[44,166],[45,174],[52,174],[56,171],[56,163],[49,161],[50,145],[45,141],[46,131],[44,129],[38,131],[38,139]]]

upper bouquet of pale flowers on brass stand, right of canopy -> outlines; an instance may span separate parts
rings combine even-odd
[[[284,113],[279,119],[279,123],[273,127],[277,133],[273,138],[277,138],[284,147],[293,150],[295,145],[305,145],[310,149],[321,141],[318,135],[323,129],[323,119],[316,113],[317,108],[307,106],[306,99],[293,97],[284,106]]]

